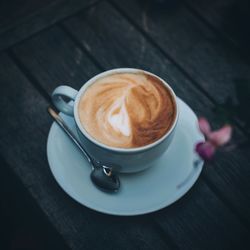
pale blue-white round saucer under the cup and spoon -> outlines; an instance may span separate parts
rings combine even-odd
[[[121,188],[108,194],[98,190],[90,180],[90,166],[76,146],[53,123],[47,156],[50,169],[62,189],[73,199],[93,210],[113,215],[139,215],[164,208],[181,198],[195,183],[202,170],[197,171],[181,188],[196,159],[194,146],[204,140],[197,127],[197,117],[182,100],[177,130],[169,149],[157,164],[140,173],[120,175]],[[75,133],[73,118],[61,114]]]

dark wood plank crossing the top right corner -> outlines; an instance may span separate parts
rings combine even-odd
[[[250,55],[250,34],[248,0],[185,0],[199,18],[231,41],[245,55]]]

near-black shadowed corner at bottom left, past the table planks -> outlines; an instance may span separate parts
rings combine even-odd
[[[0,249],[69,249],[1,156],[0,170]]]

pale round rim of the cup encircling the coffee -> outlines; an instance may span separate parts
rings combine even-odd
[[[144,73],[146,75],[151,75],[154,76],[156,78],[158,78],[163,84],[164,86],[170,91],[173,99],[174,99],[174,103],[175,103],[175,108],[176,108],[176,115],[175,115],[175,119],[171,125],[171,128],[167,131],[166,134],[164,134],[161,138],[159,138],[158,140],[147,144],[145,146],[141,146],[141,147],[134,147],[134,148],[119,148],[119,147],[112,147],[112,146],[108,146],[104,143],[101,143],[100,141],[96,140],[94,137],[92,137],[83,127],[83,125],[80,122],[80,118],[79,118],[79,114],[78,114],[78,104],[79,101],[81,99],[81,96],[83,95],[84,91],[91,85],[93,84],[95,81],[97,81],[98,79],[108,76],[108,75],[112,75],[112,74],[119,74],[119,73]],[[159,76],[146,71],[146,70],[141,70],[141,69],[136,69],[136,68],[116,68],[116,69],[111,69],[111,70],[107,70],[104,71],[94,77],[92,77],[91,79],[89,79],[79,90],[77,97],[75,99],[75,103],[74,103],[74,119],[75,122],[77,124],[78,129],[80,130],[80,132],[91,142],[93,142],[94,144],[98,145],[99,147],[109,150],[109,151],[113,151],[113,152],[119,152],[119,153],[137,153],[140,151],[145,151],[148,150],[150,148],[155,147],[156,145],[160,144],[161,142],[163,142],[171,133],[172,131],[175,129],[177,121],[179,118],[179,107],[178,107],[178,102],[177,102],[177,98],[176,95],[173,91],[173,89],[169,86],[169,84],[163,80],[162,78],[160,78]]]

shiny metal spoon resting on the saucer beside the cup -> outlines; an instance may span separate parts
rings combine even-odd
[[[92,166],[90,174],[92,182],[101,190],[113,192],[117,191],[120,187],[120,180],[117,175],[112,172],[112,166],[107,166],[94,160],[88,152],[82,147],[81,143],[75,137],[71,129],[66,125],[63,119],[53,110],[48,107],[48,112],[56,123],[63,129],[63,131],[69,136],[69,138],[75,143],[78,149],[83,153],[85,158]]]

